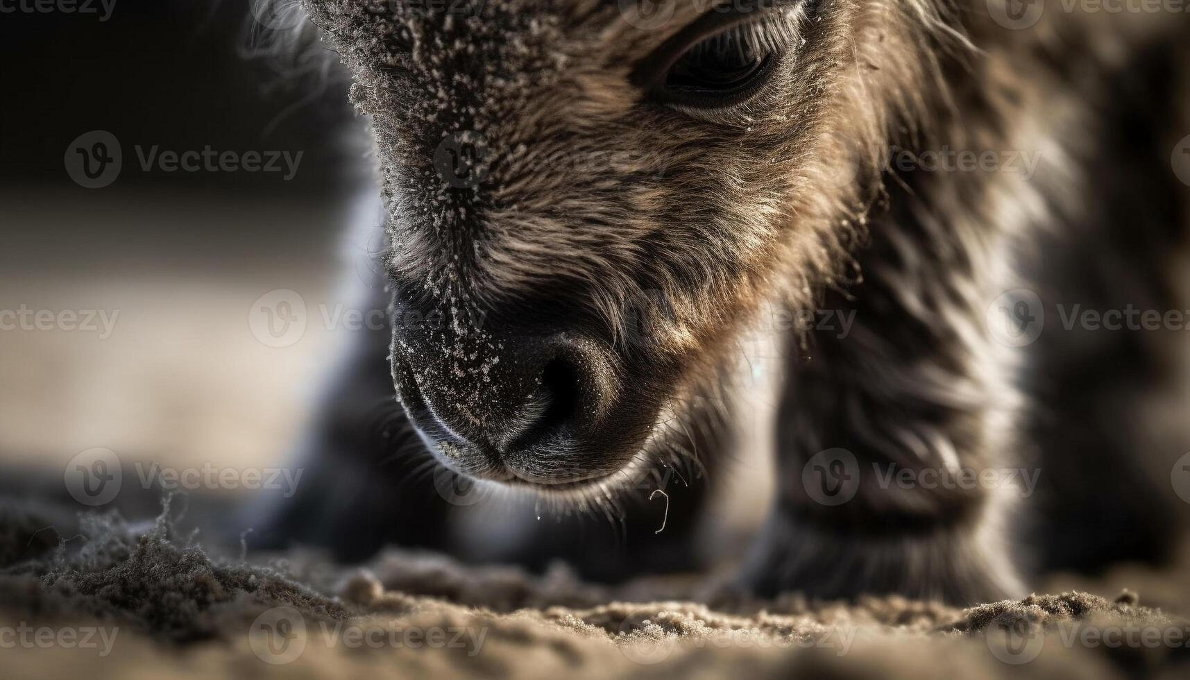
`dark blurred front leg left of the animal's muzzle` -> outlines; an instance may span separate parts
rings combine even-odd
[[[289,544],[330,549],[339,560],[371,556],[386,544],[446,547],[449,494],[438,493],[433,458],[408,422],[388,366],[389,297],[372,282],[361,295],[381,327],[361,329],[324,387],[292,457],[295,489],[255,499],[243,525],[255,549]],[[381,312],[376,314],[374,312]]]

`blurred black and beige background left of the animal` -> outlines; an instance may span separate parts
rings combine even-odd
[[[60,470],[93,447],[177,466],[275,458],[336,333],[312,323],[268,347],[249,311],[278,288],[334,308],[338,244],[369,167],[349,142],[344,83],[253,49],[250,0],[10,6],[0,310],[27,313],[0,332],[0,455]],[[96,131],[123,162],[86,188],[70,160]],[[162,162],[145,170],[155,146]],[[167,171],[167,151],[208,148],[296,163]],[[38,327],[39,311],[55,327]]]

